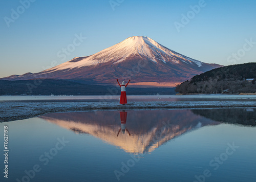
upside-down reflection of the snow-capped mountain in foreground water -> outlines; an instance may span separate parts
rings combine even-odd
[[[40,118],[133,154],[150,153],[188,131],[218,124],[191,110],[63,112]]]

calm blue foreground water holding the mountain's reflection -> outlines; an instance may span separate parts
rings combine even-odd
[[[232,108],[63,112],[0,123],[9,136],[1,181],[254,182],[255,121],[256,108]]]

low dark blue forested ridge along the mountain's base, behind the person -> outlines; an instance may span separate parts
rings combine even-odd
[[[127,87],[127,95],[173,95],[174,88]],[[119,95],[121,88],[67,80],[0,80],[0,95]]]

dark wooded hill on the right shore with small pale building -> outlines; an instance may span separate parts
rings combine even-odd
[[[256,63],[219,67],[177,85],[181,94],[255,93]],[[246,79],[254,79],[246,81]]]

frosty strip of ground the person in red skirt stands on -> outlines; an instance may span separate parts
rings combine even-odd
[[[256,107],[253,101],[179,101],[179,102],[2,102],[0,121],[16,121],[38,117],[54,112],[131,110],[131,109],[210,109],[210,108]]]

